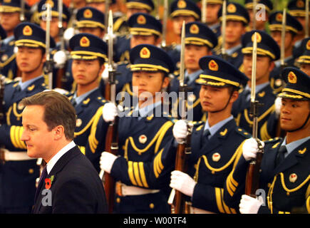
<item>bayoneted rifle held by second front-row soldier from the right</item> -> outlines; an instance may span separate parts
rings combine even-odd
[[[184,51],[185,51],[185,21],[183,21],[182,25],[182,35],[181,35],[181,64],[180,64],[180,92],[183,92],[184,98],[180,98],[179,103],[181,105],[181,118],[182,120],[186,119],[186,111],[187,111],[187,91],[188,87],[184,84],[184,71],[185,71],[185,59],[184,59]],[[184,99],[184,100],[183,100]],[[180,142],[177,145],[177,155],[175,158],[175,170],[179,170],[181,172],[187,172],[187,157],[191,154],[191,134],[192,134],[192,125],[189,125],[187,129],[187,137],[183,142]],[[168,204],[171,205],[171,213],[172,214],[181,214],[185,212],[185,195],[182,192],[172,189]]]

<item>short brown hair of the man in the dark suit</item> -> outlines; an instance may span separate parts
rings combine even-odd
[[[25,107],[41,105],[44,107],[43,121],[52,130],[62,125],[67,140],[73,140],[76,128],[76,110],[65,95],[55,91],[43,91],[21,100]]]

